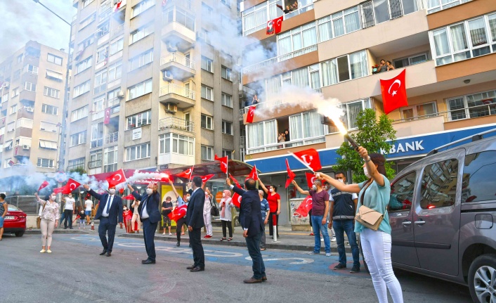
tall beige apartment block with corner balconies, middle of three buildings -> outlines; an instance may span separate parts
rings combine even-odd
[[[237,19],[235,1],[73,4],[65,169],[93,175],[191,166],[214,154],[239,159],[239,53],[210,41],[212,20]]]

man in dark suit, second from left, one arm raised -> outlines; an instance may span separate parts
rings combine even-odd
[[[159,212],[160,194],[157,189],[156,183],[148,184],[146,188],[145,195],[140,195],[138,191],[135,191],[131,184],[127,187],[131,190],[131,194],[140,200],[141,203],[138,206],[138,214],[140,214],[141,222],[143,222],[143,239],[145,240],[146,254],[148,254],[148,259],[142,260],[141,264],[155,264],[155,231],[157,231],[157,225],[161,219]]]

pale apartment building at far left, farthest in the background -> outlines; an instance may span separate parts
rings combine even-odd
[[[37,41],[0,63],[1,170],[30,162],[56,172],[66,71],[67,53]]]

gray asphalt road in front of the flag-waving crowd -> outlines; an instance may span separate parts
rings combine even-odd
[[[191,273],[187,244],[155,244],[157,264],[142,265],[139,239],[117,237],[112,257],[103,257],[95,235],[57,234],[52,254],[39,253],[38,235],[4,236],[0,302],[377,302],[367,273],[332,270],[337,254],[267,250],[268,281],[246,285],[252,269],[245,247],[204,245],[206,270]],[[464,286],[405,271],[396,276],[405,302],[471,302]]]

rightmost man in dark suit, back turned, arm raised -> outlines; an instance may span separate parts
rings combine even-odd
[[[226,181],[228,186],[241,196],[240,223],[243,228],[243,237],[247,241],[248,253],[249,256],[252,257],[253,262],[253,276],[243,282],[261,283],[262,281],[267,281],[266,266],[263,264],[262,253],[260,252],[260,238],[263,233],[263,221],[262,212],[260,210],[259,191],[256,189],[256,181],[251,178],[244,181],[244,188],[246,191],[231,185],[229,178]]]

